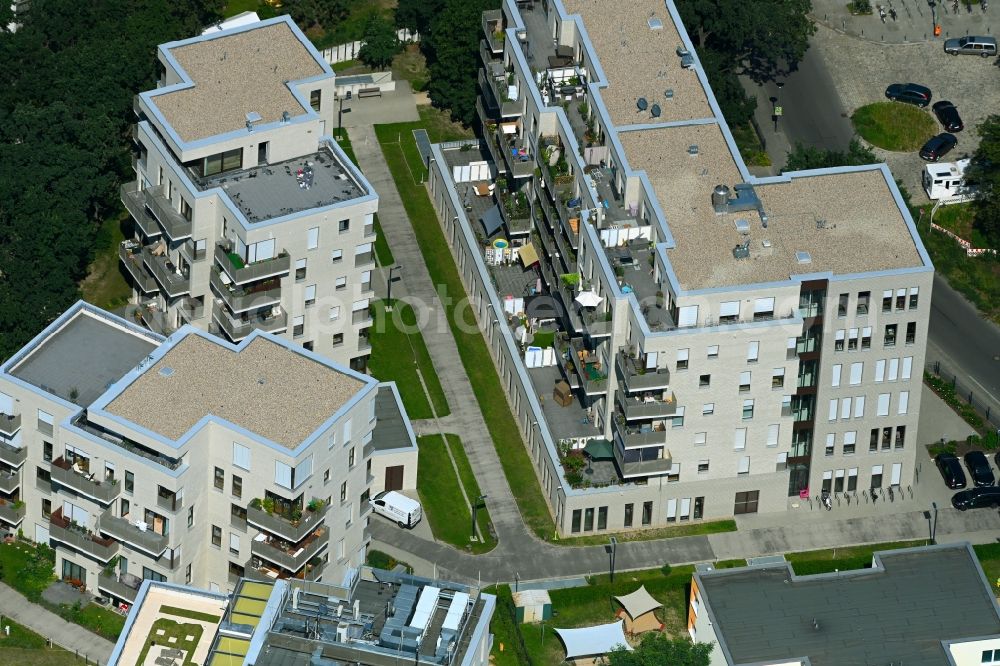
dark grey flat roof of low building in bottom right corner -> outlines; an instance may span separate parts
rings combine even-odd
[[[795,576],[791,566],[696,574],[734,664],[947,663],[941,641],[1000,633],[967,544],[876,554],[881,568]]]

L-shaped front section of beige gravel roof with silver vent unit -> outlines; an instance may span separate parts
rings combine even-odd
[[[712,206],[717,185],[732,189],[743,181],[719,125],[622,132],[619,139],[629,165],[648,175],[666,215],[675,242],[667,257],[682,289],[923,265],[877,167],[754,185],[768,217],[764,229],[756,210],[717,214]],[[691,146],[696,155],[688,153]],[[748,223],[746,233],[737,229],[738,220]],[[734,258],[733,249],[745,240],[750,257]],[[800,262],[799,252],[809,253],[808,263]]]

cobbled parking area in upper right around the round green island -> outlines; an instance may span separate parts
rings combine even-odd
[[[839,15],[834,15],[832,11],[825,14],[830,24],[837,25],[834,29],[822,19],[823,10],[832,9],[836,4],[840,5]],[[1000,67],[996,66],[997,59],[947,55],[943,48],[944,34],[939,39],[929,37],[928,41],[924,41],[922,31],[919,36],[904,35],[907,29],[917,30],[921,25],[931,25],[925,2],[919,3],[922,13],[917,14],[918,3],[908,0],[915,18],[899,16],[895,24],[889,21],[886,26],[882,25],[877,15],[844,18],[845,22],[850,21],[847,32],[836,23],[844,14],[843,6],[843,3],[828,0],[814,2],[813,15],[820,21],[812,39],[812,48],[822,54],[845,111],[851,114],[859,106],[885,100],[885,88],[890,83],[925,85],[933,93],[933,102],[951,100],[965,122],[965,130],[957,134],[958,146],[944,159],[950,161],[965,153],[971,154],[979,143],[976,135],[979,123],[990,113],[1000,110]],[[898,0],[894,6],[900,13]],[[976,6],[973,14],[966,14],[963,10],[955,16],[950,13],[950,7],[949,4],[949,13],[940,19],[943,31],[951,36],[967,32],[986,34],[992,21],[991,15],[983,15]],[[1000,17],[1000,4],[990,11],[997,12]],[[997,23],[1000,27],[1000,21]],[[865,30],[864,37],[860,35],[862,28]],[[884,42],[881,40],[883,33]],[[890,35],[893,41],[890,41]],[[920,41],[902,42],[904,36],[909,40],[919,37]],[[930,112],[928,107],[927,113]],[[906,185],[914,201],[926,200],[920,187],[920,173],[925,162],[916,151],[876,152],[889,164],[896,178]]]

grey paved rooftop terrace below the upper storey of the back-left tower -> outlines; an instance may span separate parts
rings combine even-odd
[[[251,223],[332,206],[365,194],[347,167],[325,146],[286,162],[229,171],[197,183],[202,190],[222,188]]]

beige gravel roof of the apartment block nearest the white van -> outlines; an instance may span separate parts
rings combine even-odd
[[[212,414],[294,449],[363,386],[265,336],[234,351],[192,331],[106,409],[173,440]]]

